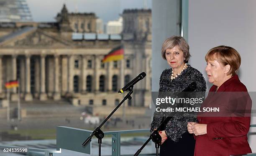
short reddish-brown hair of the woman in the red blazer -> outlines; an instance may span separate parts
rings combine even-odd
[[[241,65],[241,56],[230,46],[216,46],[205,55],[205,61],[217,60],[223,66],[230,65],[229,74],[235,75]]]

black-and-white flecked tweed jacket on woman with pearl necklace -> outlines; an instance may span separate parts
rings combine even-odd
[[[172,69],[165,69],[160,77],[160,88],[159,92],[182,92],[185,88],[188,87],[192,82],[196,82],[197,87],[195,92],[205,92],[206,91],[206,83],[205,79],[202,76],[202,73],[197,69],[188,65],[187,69],[185,69],[180,76],[171,81]],[[154,118],[151,123],[151,132],[158,128],[161,122],[165,117],[161,117],[154,113]],[[168,138],[173,141],[178,142],[179,138],[182,137],[182,134],[187,131],[187,122],[197,122],[196,116],[179,116],[174,115],[172,119],[165,126],[165,133]]]

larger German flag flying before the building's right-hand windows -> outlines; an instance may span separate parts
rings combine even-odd
[[[118,46],[112,49],[107,55],[102,59],[102,63],[122,60],[124,55],[123,46]]]

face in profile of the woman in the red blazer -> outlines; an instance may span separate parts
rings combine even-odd
[[[207,72],[208,81],[218,87],[225,81],[224,66],[217,60],[207,61],[205,71]]]

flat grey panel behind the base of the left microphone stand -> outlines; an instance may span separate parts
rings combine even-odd
[[[92,134],[91,130],[83,130],[66,126],[57,126],[57,149],[91,154],[92,143],[82,146],[82,143]]]

